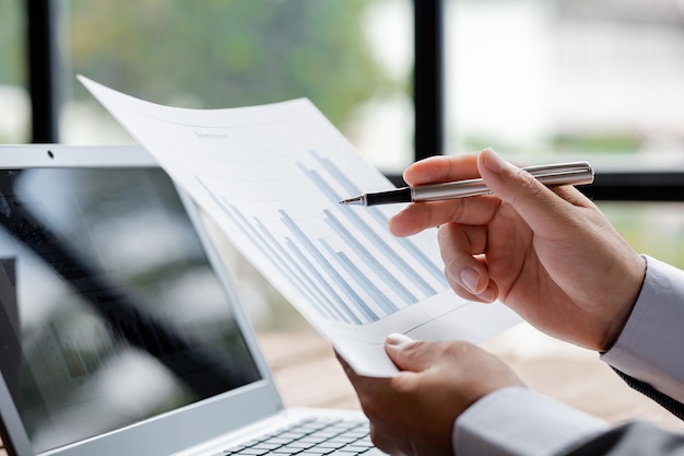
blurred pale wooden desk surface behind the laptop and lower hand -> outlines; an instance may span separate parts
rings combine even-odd
[[[332,349],[316,332],[261,332],[259,341],[286,406],[359,409]],[[611,423],[640,418],[684,431],[684,423],[630,389],[595,353],[564,349],[520,354],[511,349],[510,335],[483,346],[530,388]],[[7,456],[1,442],[0,456]]]

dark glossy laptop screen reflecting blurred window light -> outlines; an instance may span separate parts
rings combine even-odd
[[[260,378],[161,169],[0,171],[0,370],[35,452]]]

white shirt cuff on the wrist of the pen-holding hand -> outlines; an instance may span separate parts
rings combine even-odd
[[[684,402],[684,271],[646,257],[644,285],[615,344],[601,360]]]

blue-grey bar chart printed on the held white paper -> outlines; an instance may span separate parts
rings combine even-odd
[[[329,159],[309,150],[294,165],[322,201],[305,221],[275,208],[275,227],[273,221],[249,217],[225,195],[210,191],[201,177],[196,179],[320,317],[370,324],[448,288],[434,258],[413,239],[389,234],[388,217],[378,208],[339,203],[361,189]],[[307,230],[311,219],[319,219],[319,233]]]

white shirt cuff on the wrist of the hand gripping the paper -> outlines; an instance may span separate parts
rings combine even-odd
[[[455,422],[453,452],[468,456],[551,456],[605,431],[602,421],[521,386],[498,389]]]

